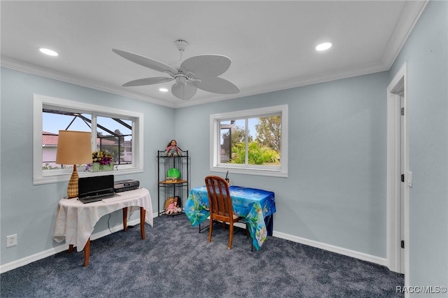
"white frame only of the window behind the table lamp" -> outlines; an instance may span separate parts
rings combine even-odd
[[[132,164],[120,164],[114,175],[140,173],[144,171],[144,114],[133,111],[119,110],[93,104],[84,104],[78,101],[57,99],[34,94],[34,120],[33,120],[33,183],[34,185],[63,182],[70,180],[73,169],[42,170],[42,111],[43,108],[52,108],[62,111],[88,113],[92,115],[92,136],[97,135],[96,116],[132,120]],[[92,139],[92,152],[96,150],[96,139]],[[90,172],[78,169],[80,177],[110,175],[111,172]]]

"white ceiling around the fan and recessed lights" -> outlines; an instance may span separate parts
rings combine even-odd
[[[386,71],[426,1],[1,1],[1,66],[171,107],[202,104]],[[222,78],[238,94],[198,90],[188,101],[162,93],[174,82],[112,48],[171,64],[183,55],[232,59]],[[330,41],[333,47],[316,52]],[[58,57],[38,52],[52,48]],[[274,99],[273,99],[274,100]]]

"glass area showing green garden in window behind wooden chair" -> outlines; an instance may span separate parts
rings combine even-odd
[[[279,166],[281,116],[221,120],[221,163]]]

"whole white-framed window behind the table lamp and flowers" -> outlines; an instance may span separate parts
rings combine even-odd
[[[108,152],[120,174],[143,171],[143,114],[34,95],[34,184],[68,180],[73,171],[55,163],[59,130],[91,132],[92,152]],[[84,169],[80,176],[89,176]]]

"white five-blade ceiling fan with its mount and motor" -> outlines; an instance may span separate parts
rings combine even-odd
[[[176,80],[176,83],[171,87],[171,91],[175,97],[183,100],[192,98],[196,94],[197,88],[218,94],[235,94],[239,92],[237,85],[218,77],[225,73],[230,66],[231,61],[228,57],[223,55],[198,55],[182,62],[182,53],[187,48],[188,42],[177,40],[174,44],[176,44],[181,58],[179,63],[173,66],[132,52],[112,49],[113,52],[125,59],[169,75],[169,77],[131,80],[123,84],[123,87],[154,85]]]

